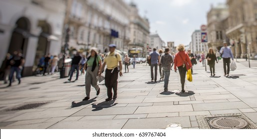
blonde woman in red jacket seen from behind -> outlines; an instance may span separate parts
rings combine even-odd
[[[177,67],[179,69],[180,74],[180,81],[182,86],[182,92],[185,92],[184,86],[185,86],[185,79],[186,79],[186,66],[185,64],[189,64],[189,67],[192,68],[191,60],[189,59],[188,53],[185,52],[185,46],[183,44],[180,44],[177,47],[177,50],[179,51],[174,59],[174,70],[177,72]]]

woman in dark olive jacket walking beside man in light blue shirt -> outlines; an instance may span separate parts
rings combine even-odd
[[[217,53],[219,53],[219,52],[217,52]],[[213,48],[209,49],[206,59],[207,59],[208,65],[210,66],[211,76],[215,76],[215,61],[217,63],[218,63],[218,61],[217,61],[216,54],[213,51]]]

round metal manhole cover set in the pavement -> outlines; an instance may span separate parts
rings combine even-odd
[[[247,121],[235,117],[219,117],[210,121],[210,126],[217,129],[243,129]]]

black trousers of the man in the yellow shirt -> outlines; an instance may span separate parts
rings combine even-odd
[[[114,95],[117,95],[117,88],[118,88],[118,68],[115,68],[112,70],[105,70],[105,86],[107,87],[107,96],[108,98],[112,98],[112,89],[114,92]]]

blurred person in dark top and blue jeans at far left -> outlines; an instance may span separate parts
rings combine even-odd
[[[18,84],[21,82],[21,70],[25,63],[24,58],[22,57],[21,53],[18,53],[17,51],[14,51],[13,57],[10,59],[10,74],[9,74],[9,85],[11,86],[12,77],[14,72],[16,72],[16,78],[18,79]]]

